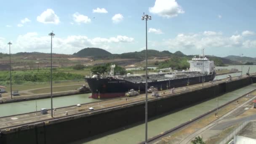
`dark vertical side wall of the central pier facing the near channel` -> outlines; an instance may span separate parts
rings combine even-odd
[[[155,117],[178,108],[188,107],[199,101],[211,99],[249,85],[251,82],[251,78],[248,77],[197,91],[191,90],[187,93],[176,93],[173,96],[149,100],[148,117]],[[40,123],[27,128],[17,128],[11,132],[2,132],[0,144],[63,144],[115,130],[125,125],[143,123],[144,118],[145,103],[139,102],[88,116],[83,114],[77,117],[49,121],[48,125]]]

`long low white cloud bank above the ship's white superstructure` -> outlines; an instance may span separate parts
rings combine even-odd
[[[171,49],[177,48],[255,48],[256,40],[245,40],[242,35],[224,36],[222,32],[205,31],[195,34],[181,33],[164,40],[163,44]]]

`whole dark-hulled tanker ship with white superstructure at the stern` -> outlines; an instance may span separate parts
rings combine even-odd
[[[194,85],[198,83],[212,81],[215,76],[214,62],[207,58],[194,57],[190,63],[190,68],[182,72],[169,72],[163,74],[159,72],[155,75],[148,75],[148,88],[154,86],[161,89],[177,88],[186,85]],[[90,78],[85,78],[88,83],[92,98],[115,98],[125,96],[125,92],[130,89],[145,92],[146,76],[114,76],[114,67],[112,65],[109,77],[99,77],[94,75]]]

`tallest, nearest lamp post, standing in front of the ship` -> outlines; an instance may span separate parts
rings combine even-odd
[[[143,13],[141,20],[146,21],[146,101],[145,101],[145,144],[147,144],[147,21],[151,20],[151,16]]]

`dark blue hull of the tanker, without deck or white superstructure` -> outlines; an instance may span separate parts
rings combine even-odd
[[[215,72],[213,72],[211,75],[205,75],[204,81],[212,81],[215,78],[215,75]],[[134,89],[135,91],[140,90],[141,93],[144,93],[146,89],[145,83],[133,83],[131,81],[120,80],[112,77],[85,78],[85,81],[88,83],[92,92],[91,97],[94,99],[125,96],[125,92],[129,91],[130,89]],[[202,76],[148,82],[148,88],[150,86],[154,86],[155,88],[158,88],[158,90],[165,90],[186,85],[195,85],[198,83],[202,83]]]

